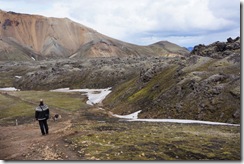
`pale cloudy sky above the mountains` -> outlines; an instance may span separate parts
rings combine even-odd
[[[137,45],[183,47],[240,36],[239,0],[0,0],[0,9],[69,18]]]

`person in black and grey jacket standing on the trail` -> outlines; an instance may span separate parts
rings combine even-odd
[[[48,134],[47,120],[49,119],[49,108],[46,104],[43,103],[42,99],[40,100],[39,106],[36,107],[35,118],[36,120],[39,121],[42,135],[47,135]]]

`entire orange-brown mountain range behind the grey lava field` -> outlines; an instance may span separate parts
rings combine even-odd
[[[23,61],[189,54],[184,48],[169,43],[150,46],[129,44],[68,18],[48,18],[0,10],[0,25],[1,60],[14,60],[14,54],[16,60]]]

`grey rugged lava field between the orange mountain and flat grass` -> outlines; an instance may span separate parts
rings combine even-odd
[[[61,87],[106,88],[136,77],[143,69],[162,67],[178,58],[124,57],[1,62],[1,87],[48,90]],[[15,77],[17,76],[17,77]],[[153,74],[152,74],[153,76]],[[19,77],[19,78],[18,78]]]

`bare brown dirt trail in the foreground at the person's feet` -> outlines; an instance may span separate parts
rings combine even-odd
[[[0,126],[1,160],[80,160],[68,148],[64,137],[73,133],[71,115],[54,122],[49,119],[49,134],[41,135],[38,121],[19,126]]]

